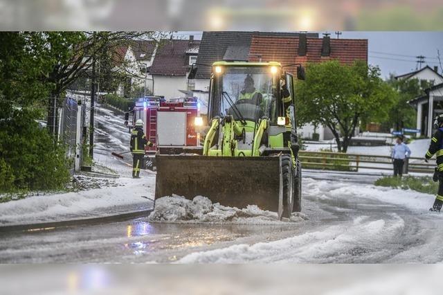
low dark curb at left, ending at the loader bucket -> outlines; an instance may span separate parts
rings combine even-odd
[[[15,224],[0,226],[0,233],[10,233],[13,231],[46,231],[49,229],[56,229],[59,227],[79,226],[100,224],[105,222],[116,222],[130,220],[138,217],[147,217],[154,209],[133,211],[118,215],[108,215],[102,217],[83,218],[80,220],[64,220],[60,222],[39,222],[34,224]]]

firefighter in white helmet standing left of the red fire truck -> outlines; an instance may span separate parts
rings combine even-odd
[[[134,130],[131,132],[132,178],[140,178],[140,168],[145,156],[145,145],[152,147],[152,142],[146,139],[143,132],[143,120],[138,119]]]

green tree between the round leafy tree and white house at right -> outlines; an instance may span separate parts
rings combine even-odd
[[[418,79],[397,80],[392,74],[387,82],[390,87],[395,89],[396,96],[394,104],[389,109],[388,120],[385,122],[386,127],[400,130],[404,127],[415,126],[417,112],[408,104],[408,101],[423,96],[425,94],[423,90],[431,87],[432,83]]]

